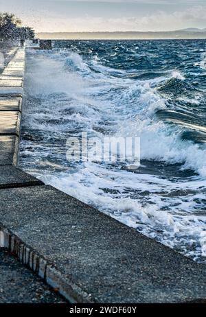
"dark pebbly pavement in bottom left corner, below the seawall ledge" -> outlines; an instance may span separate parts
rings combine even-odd
[[[65,303],[42,279],[2,249],[0,276],[0,303]]]

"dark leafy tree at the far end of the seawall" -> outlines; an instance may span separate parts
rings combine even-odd
[[[34,30],[30,27],[21,27],[21,20],[14,14],[0,12],[0,38],[3,40],[32,39]]]

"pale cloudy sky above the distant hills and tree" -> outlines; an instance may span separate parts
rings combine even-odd
[[[206,0],[0,0],[36,32],[171,31],[206,27]]]

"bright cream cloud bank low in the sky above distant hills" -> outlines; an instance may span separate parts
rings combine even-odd
[[[206,5],[196,5],[183,11],[165,13],[157,11],[137,18],[135,16],[122,18],[103,18],[102,16],[84,16],[73,19],[61,19],[60,16],[50,16],[51,28],[48,32],[115,32],[115,31],[171,31],[186,27],[206,27]],[[41,25],[45,29],[46,25]]]

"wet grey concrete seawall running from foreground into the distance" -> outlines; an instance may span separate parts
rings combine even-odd
[[[0,246],[72,303],[206,302],[206,266],[18,166],[25,49],[0,75]]]

